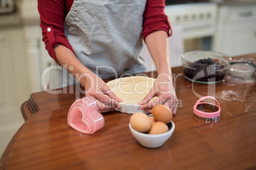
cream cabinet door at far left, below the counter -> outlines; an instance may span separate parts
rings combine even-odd
[[[22,29],[0,29],[0,155],[24,119],[20,105],[29,98]]]

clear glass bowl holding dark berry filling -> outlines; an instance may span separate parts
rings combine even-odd
[[[201,84],[222,82],[231,58],[217,51],[188,51],[181,55],[185,79]]]

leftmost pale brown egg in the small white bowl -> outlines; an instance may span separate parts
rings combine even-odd
[[[148,115],[142,112],[133,114],[130,118],[130,123],[132,129],[142,133],[149,131],[149,129],[151,128],[151,122],[148,118]]]

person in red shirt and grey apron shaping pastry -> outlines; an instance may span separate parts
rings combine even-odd
[[[164,0],[38,0],[38,11],[48,53],[76,78],[86,95],[99,100],[100,112],[119,107],[121,101],[103,79],[145,71],[138,56],[142,36],[159,76],[141,109],[151,113],[154,105],[164,103],[176,113],[167,40],[171,27]],[[153,96],[159,98],[148,102]]]

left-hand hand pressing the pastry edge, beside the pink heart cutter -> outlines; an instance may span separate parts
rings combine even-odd
[[[96,98],[99,112],[110,112],[120,107],[119,102],[122,100],[111,91],[100,77],[94,74],[87,74],[82,79],[80,84],[85,88],[85,96]]]

